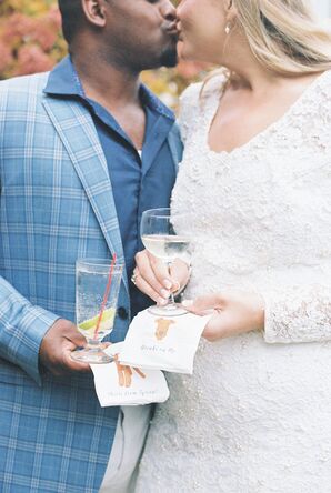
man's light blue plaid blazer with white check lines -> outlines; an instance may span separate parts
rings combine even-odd
[[[40,342],[74,320],[77,258],[123,260],[106,158],[90,113],[43,93],[48,74],[0,83],[0,491],[97,492],[118,408],[101,409],[91,375],[39,368]],[[174,125],[173,165],[181,157]],[[129,310],[128,280],[120,301]],[[112,340],[128,321],[117,319]]]

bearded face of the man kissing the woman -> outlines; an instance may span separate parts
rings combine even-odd
[[[104,42],[120,63],[139,71],[175,66],[177,17],[170,0],[108,0],[106,12]]]

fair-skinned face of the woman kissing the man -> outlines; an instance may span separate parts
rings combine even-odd
[[[183,59],[222,62],[228,3],[229,0],[181,0],[177,13]]]

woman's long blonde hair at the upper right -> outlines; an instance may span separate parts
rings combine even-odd
[[[237,23],[255,58],[283,76],[331,69],[331,29],[314,18],[308,0],[232,0]]]

